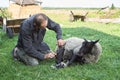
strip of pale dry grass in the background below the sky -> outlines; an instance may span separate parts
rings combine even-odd
[[[57,8],[51,8],[51,9],[44,9],[43,8],[43,11],[59,11],[59,13],[65,13],[65,14],[70,14],[70,11],[73,11],[73,13],[75,15],[85,15],[87,12],[88,12],[88,15],[87,17],[88,18],[102,18],[102,19],[105,19],[105,18],[108,18],[108,19],[111,19],[111,18],[120,18],[120,9],[119,8],[116,8],[116,9],[106,9],[106,10],[101,10],[99,11],[100,9],[79,9],[79,8],[66,8],[66,9],[57,9]],[[61,11],[62,10],[62,11]],[[54,12],[54,13],[57,13]],[[99,11],[99,12],[98,12]],[[50,13],[49,12],[49,13]],[[53,14],[54,15],[54,14]]]

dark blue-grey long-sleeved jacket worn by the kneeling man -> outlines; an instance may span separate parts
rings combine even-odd
[[[44,54],[40,51],[46,48],[42,47],[42,45],[45,45],[42,42],[46,29],[36,30],[33,26],[34,17],[35,15],[24,20],[21,24],[17,47],[22,48],[31,57],[43,60]],[[56,32],[57,40],[62,39],[62,31],[58,23],[48,18],[47,28]]]

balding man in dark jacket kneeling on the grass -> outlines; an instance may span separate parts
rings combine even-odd
[[[27,65],[38,65],[41,60],[54,58],[55,54],[43,42],[46,28],[56,32],[58,46],[64,44],[60,25],[43,13],[36,14],[21,24],[18,43],[12,52],[14,59]]]

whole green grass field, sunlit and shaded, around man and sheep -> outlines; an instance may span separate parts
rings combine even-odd
[[[9,39],[0,32],[0,80],[120,80],[120,24],[68,21],[64,13],[47,15],[60,23],[63,38],[79,37],[90,40],[100,39],[103,52],[98,63],[74,65],[54,70],[50,66],[54,59],[40,62],[38,66],[26,66],[13,61],[10,54],[18,36]],[[54,51],[56,35],[48,30],[44,39]]]

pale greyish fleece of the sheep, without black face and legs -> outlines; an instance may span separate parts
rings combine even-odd
[[[79,49],[82,47],[83,42],[84,42],[84,39],[77,38],[77,37],[71,37],[66,39],[65,45],[63,46],[65,49],[63,59],[70,59],[72,54],[77,55],[79,52]],[[56,50],[58,49],[59,48],[57,47]],[[95,46],[92,48],[91,54],[83,55],[85,63],[98,62],[101,53],[102,53],[102,47],[100,43],[97,42]]]

